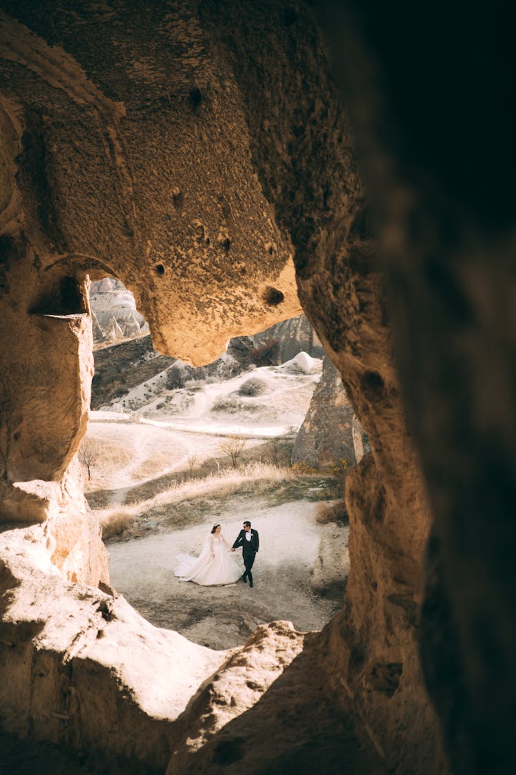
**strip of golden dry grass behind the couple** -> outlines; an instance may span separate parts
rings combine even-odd
[[[125,505],[98,509],[104,539],[119,536],[132,523],[149,512],[162,513],[163,507],[174,512],[176,505],[185,505],[186,501],[196,501],[196,508],[202,512],[210,508],[214,498],[225,500],[234,494],[260,495],[274,487],[296,478],[288,468],[279,468],[268,463],[249,463],[239,469],[231,469],[207,477],[172,481],[165,491],[153,494],[150,498],[141,498]],[[138,488],[139,490],[139,488]],[[206,503],[203,503],[206,501]]]

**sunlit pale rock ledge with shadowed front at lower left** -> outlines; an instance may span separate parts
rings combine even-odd
[[[225,653],[152,627],[122,597],[67,583],[42,534],[0,536],[2,726],[165,768],[171,722]]]

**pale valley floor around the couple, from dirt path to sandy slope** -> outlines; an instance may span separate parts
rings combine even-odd
[[[323,485],[294,483],[285,493],[281,482],[274,491],[274,482],[267,489],[257,480],[256,486],[251,482],[251,493],[238,482],[231,484],[234,491],[224,491],[224,477],[249,479],[249,473],[231,469],[223,451],[227,434],[235,431],[246,439],[242,458],[268,460],[273,478],[294,477],[288,469],[292,440],[285,433],[301,424],[320,372],[320,362],[301,356],[306,371],[314,373],[292,371],[289,364],[257,369],[252,377],[264,392],[255,398],[239,392],[250,379],[241,374],[203,384],[173,416],[166,416],[167,409],[185,391],[168,391],[165,398],[149,394],[150,403],[140,407],[144,422],[99,422],[107,418],[94,415],[97,422],[90,423],[87,439],[96,446],[97,458],[87,498],[97,509],[104,536],[111,536],[111,584],[152,624],[227,649],[275,619],[287,619],[302,632],[321,629],[340,607],[348,528],[316,521],[317,499],[328,498],[320,490]],[[156,381],[152,390],[159,394],[159,389]],[[272,434],[275,439],[266,438]],[[214,523],[220,523],[232,544],[244,519],[260,534],[254,589],[243,581],[200,587],[173,575],[176,555],[198,555]],[[243,572],[241,551],[232,556]]]

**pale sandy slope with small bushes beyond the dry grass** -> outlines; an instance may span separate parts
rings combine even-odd
[[[309,373],[299,370],[298,362]],[[86,483],[87,490],[120,490],[113,502],[123,503],[123,491],[145,480],[185,470],[189,456],[195,457],[196,466],[221,457],[224,436],[246,436],[246,447],[250,449],[264,439],[299,428],[320,379],[320,370],[320,361],[299,353],[293,363],[262,367],[228,381],[203,384],[199,390],[191,391],[190,405],[173,415],[166,415],[166,408],[158,412],[156,406],[167,396],[176,400],[188,391],[162,392],[141,409],[141,422],[97,422],[109,415],[91,412],[87,438],[98,443],[100,455],[92,467],[91,481]],[[251,378],[261,381],[264,392],[252,397],[239,394],[241,384]],[[135,390],[138,389],[143,388]],[[214,409],[227,400],[227,410]],[[111,419],[115,417],[111,415]]]

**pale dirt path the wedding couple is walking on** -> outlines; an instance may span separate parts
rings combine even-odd
[[[270,508],[264,501],[235,498],[231,508],[210,515],[202,525],[111,543],[111,583],[152,624],[214,649],[242,644],[258,624],[274,619],[288,619],[302,631],[321,629],[340,608],[341,598],[321,598],[310,585],[327,531],[316,523],[315,508],[309,501]],[[200,587],[173,575],[176,554],[199,553],[211,525],[220,522],[231,544],[244,518],[260,535],[253,589],[244,582]],[[241,552],[233,556],[243,571]]]

